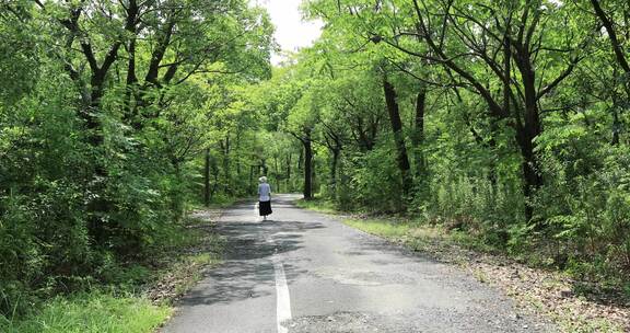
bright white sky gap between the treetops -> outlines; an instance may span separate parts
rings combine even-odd
[[[303,21],[300,13],[300,0],[255,0],[267,8],[276,25],[276,42],[282,51],[294,51],[300,47],[311,46],[322,34],[320,21]],[[278,65],[281,54],[273,54],[271,61]]]

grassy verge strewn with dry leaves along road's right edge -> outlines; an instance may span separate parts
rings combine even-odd
[[[409,217],[348,217],[323,200],[299,202],[298,206],[341,215],[342,222],[349,227],[436,261],[458,264],[479,282],[497,286],[515,298],[526,311],[545,314],[561,332],[630,332],[630,305],[590,300],[578,292],[575,280],[567,273],[510,257],[505,251],[483,243],[474,234]]]

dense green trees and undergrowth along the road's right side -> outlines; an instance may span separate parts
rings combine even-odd
[[[259,103],[301,142],[306,197],[418,215],[627,283],[628,3],[303,8],[324,21],[323,36],[259,88]]]

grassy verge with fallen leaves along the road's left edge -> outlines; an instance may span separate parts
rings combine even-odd
[[[174,313],[174,301],[222,261],[225,240],[213,231],[218,214],[209,211],[165,232],[148,259],[103,267],[103,282],[83,291],[33,305],[19,318],[0,315],[0,332],[154,332]]]

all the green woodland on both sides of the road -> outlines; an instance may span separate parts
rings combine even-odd
[[[0,313],[107,279],[261,174],[628,282],[627,1],[303,10],[322,37],[272,69],[246,0],[2,2]]]

